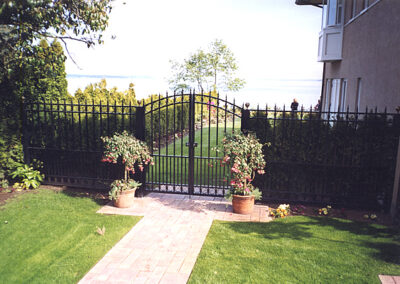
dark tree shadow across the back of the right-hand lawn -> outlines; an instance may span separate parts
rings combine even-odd
[[[294,218],[298,220],[295,221]],[[227,222],[226,225],[240,234],[258,234],[271,240],[283,238],[299,241],[320,239],[327,242],[351,243],[371,248],[373,250],[371,256],[376,259],[400,264],[400,232],[396,228],[326,217],[306,217],[306,219],[303,217],[290,217],[282,221],[273,221],[266,224]],[[329,237],[329,230],[320,231],[318,227],[331,229],[332,231],[347,232],[353,234],[354,239],[333,239]]]

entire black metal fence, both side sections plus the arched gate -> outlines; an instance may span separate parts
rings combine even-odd
[[[270,144],[266,174],[255,180],[264,201],[389,207],[398,114],[247,110],[203,94],[159,97],[145,106],[23,103],[25,158],[43,162],[49,184],[105,188],[122,178],[121,165],[101,163],[100,137],[127,130],[146,140],[155,157],[148,188],[185,192],[193,159],[193,193],[221,195],[229,185],[214,148],[225,133],[240,129]]]

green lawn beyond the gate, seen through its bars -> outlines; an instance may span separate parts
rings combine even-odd
[[[232,123],[227,123],[224,127],[223,123],[217,126],[203,127],[195,133],[195,142],[198,146],[195,148],[194,160],[194,181],[196,185],[214,185],[226,186],[223,181],[228,171],[220,166],[220,159],[223,153],[218,153],[215,148],[221,145],[221,141],[226,133],[232,133]],[[218,130],[218,131],[217,131]],[[240,122],[235,122],[235,131],[240,131]],[[161,183],[188,183],[188,167],[189,159],[185,158],[189,155],[186,142],[189,141],[189,136],[183,138],[176,138],[175,143],[170,143],[168,147],[163,147],[160,152],[154,153],[154,167],[149,168],[147,180]],[[175,145],[174,145],[175,144]],[[166,156],[157,156],[160,155]],[[183,156],[184,158],[177,157]],[[200,157],[206,157],[205,159]],[[211,159],[208,159],[210,157]]]

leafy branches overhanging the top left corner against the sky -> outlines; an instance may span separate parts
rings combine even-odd
[[[111,0],[6,0],[0,4],[0,75],[35,53],[38,39],[101,44]]]

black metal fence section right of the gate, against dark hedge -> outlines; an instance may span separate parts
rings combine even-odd
[[[398,114],[252,109],[244,123],[264,147],[263,200],[389,208]]]

